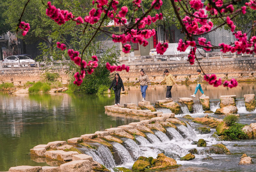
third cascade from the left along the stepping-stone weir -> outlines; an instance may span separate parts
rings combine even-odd
[[[113,143],[113,148],[116,150],[119,158],[121,159],[121,164],[134,162],[128,150],[126,150],[125,147],[123,147],[123,145],[115,142]]]

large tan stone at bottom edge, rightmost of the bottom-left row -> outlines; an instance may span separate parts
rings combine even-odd
[[[92,172],[89,160],[76,160],[60,165],[61,172]]]

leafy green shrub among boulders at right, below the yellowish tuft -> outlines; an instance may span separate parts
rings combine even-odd
[[[247,134],[242,130],[245,125],[239,123],[232,123],[229,129],[225,130],[223,133],[230,140],[239,140],[248,138]]]

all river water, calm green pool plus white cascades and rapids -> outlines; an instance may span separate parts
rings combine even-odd
[[[244,94],[255,94],[254,83],[239,83],[238,87],[228,89],[224,87],[214,88],[204,85],[203,90],[210,99],[219,99],[221,95],[233,95],[243,97]],[[174,87],[173,99],[189,97],[187,90],[194,90],[196,85],[178,85]],[[141,100],[141,92],[137,86],[126,86],[129,94],[121,95],[120,103],[137,103]],[[146,100],[154,103],[156,100],[165,98],[166,87],[152,86],[146,92]],[[158,92],[158,94],[156,94]],[[198,96],[198,95],[197,95]],[[29,150],[38,144],[47,144],[56,140],[67,140],[79,137],[82,134],[94,133],[97,130],[105,130],[110,127],[127,125],[145,118],[117,113],[105,113],[104,106],[114,103],[114,96],[96,96],[84,94],[18,94],[9,95],[0,93],[0,171],[8,171],[10,167],[18,165],[45,166],[45,162],[30,160]],[[198,97],[195,98],[198,100]],[[256,123],[256,112],[247,112],[242,100],[236,101],[240,123]],[[219,102],[211,102],[210,108],[215,111],[219,108]],[[193,117],[202,117],[201,107],[195,105]],[[158,110],[158,109],[157,109]],[[159,109],[170,112],[169,109]],[[183,109],[187,113],[187,109]],[[184,113],[184,112],[183,112]],[[189,114],[189,113],[187,113]],[[184,115],[184,114],[183,114]],[[190,114],[191,115],[191,114]],[[192,116],[191,115],[191,116]],[[177,117],[182,115],[176,115]],[[221,118],[220,115],[210,116]],[[223,117],[222,117],[223,118]],[[180,118],[183,120],[183,118]],[[193,128],[201,127],[188,120],[188,127],[178,126],[167,128],[166,136],[162,132],[148,133],[147,139],[136,136],[133,140],[124,140],[124,146],[113,143],[116,153],[122,159],[124,167],[131,168],[138,156],[152,156],[164,153],[166,156],[175,158],[177,164],[183,165],[177,169],[166,171],[256,171],[255,140],[222,141],[230,149],[232,155],[210,155],[213,159],[201,160],[206,155],[195,155],[192,161],[179,161],[188,153],[188,150],[196,148],[203,152],[205,148],[191,145],[192,140],[203,138],[207,146],[220,143],[210,137],[215,129],[209,134],[195,134]],[[160,139],[159,139],[160,138]],[[168,139],[167,139],[168,138]],[[238,144],[238,146],[234,146]],[[111,168],[116,165],[110,150],[105,146],[99,146],[97,150],[79,148],[94,160]],[[245,153],[252,158],[252,165],[238,165],[240,156]],[[134,158],[134,159],[133,159]]]

